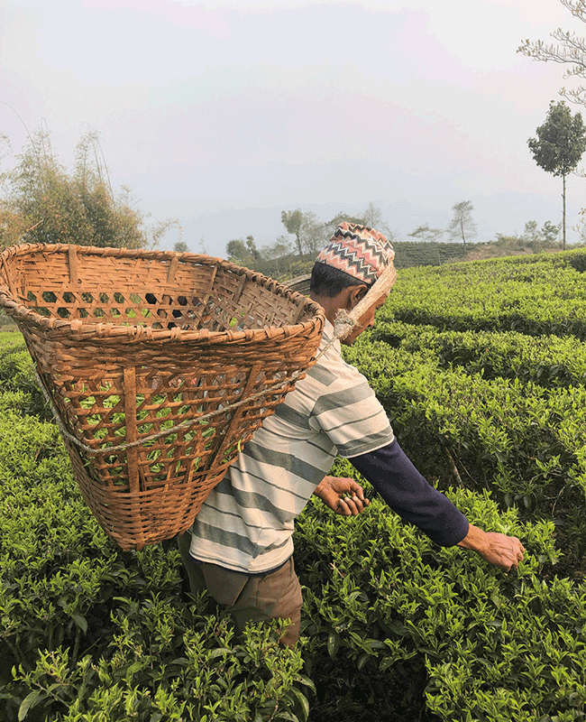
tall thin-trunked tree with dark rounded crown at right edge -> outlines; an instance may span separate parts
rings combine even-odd
[[[537,137],[527,145],[537,165],[563,180],[563,249],[565,250],[565,179],[580,162],[586,150],[586,129],[580,113],[572,112],[563,100],[549,104],[544,125],[536,130]]]

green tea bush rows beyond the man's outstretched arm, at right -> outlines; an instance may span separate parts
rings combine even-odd
[[[555,518],[568,568],[586,553],[582,258],[444,267],[425,286],[423,271],[406,272],[376,328],[345,351],[418,467]]]

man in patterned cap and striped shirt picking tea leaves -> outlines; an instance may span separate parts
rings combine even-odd
[[[179,537],[191,591],[207,588],[233,616],[238,633],[251,620],[289,618],[281,643],[297,642],[302,598],[292,560],[296,516],[312,494],[338,514],[360,514],[368,504],[353,479],[325,476],[337,455],[434,542],[472,549],[507,571],[523,560],[516,537],[472,526],[419,474],[366,378],[343,361],[340,341],[332,341],[338,311],[353,310],[393,257],[378,231],[347,223],[337,228],[312,272],[311,297],[326,318],[316,365],[255,431],[191,532]],[[372,326],[375,310],[344,344]]]

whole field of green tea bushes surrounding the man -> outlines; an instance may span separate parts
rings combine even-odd
[[[440,549],[362,480],[359,517],[314,499],[298,520],[294,651],[276,625],[236,642],[173,542],[116,548],[0,336],[0,720],[582,719],[585,270],[578,251],[401,272],[348,360],[430,482],[526,560]]]

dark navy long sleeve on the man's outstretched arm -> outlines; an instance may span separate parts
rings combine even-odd
[[[401,519],[415,524],[436,544],[451,547],[468,533],[466,517],[421,476],[396,439],[349,461]]]

